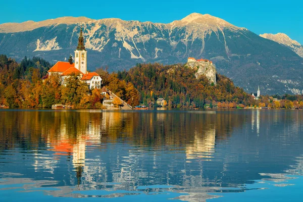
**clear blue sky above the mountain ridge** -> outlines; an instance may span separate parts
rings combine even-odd
[[[190,13],[210,14],[257,34],[283,32],[303,44],[303,1],[24,1],[4,0],[0,24],[41,21],[63,16],[121,18],[169,23]]]

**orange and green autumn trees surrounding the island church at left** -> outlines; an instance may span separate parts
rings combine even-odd
[[[78,75],[70,75],[64,85],[61,83],[61,76],[56,74],[42,81],[42,77],[52,66],[37,57],[25,57],[17,63],[14,59],[0,55],[0,106],[51,108],[54,104],[65,104],[74,108],[104,108],[104,96],[100,89],[89,89]],[[108,75],[108,80],[105,80],[106,87],[112,88],[111,90],[127,100],[128,104],[138,104],[139,93],[133,85],[120,81],[114,73],[109,74],[102,69],[98,72]]]

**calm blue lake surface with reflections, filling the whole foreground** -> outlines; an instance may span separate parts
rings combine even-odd
[[[0,200],[302,201],[303,111],[0,110]]]

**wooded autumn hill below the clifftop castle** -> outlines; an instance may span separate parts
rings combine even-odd
[[[194,69],[181,64],[155,63],[137,64],[129,71],[118,71],[117,77],[132,83],[140,92],[140,103],[146,106],[157,105],[159,97],[173,108],[203,108],[206,104],[217,106],[218,102],[255,104],[255,100],[229,78],[218,74],[217,85],[211,85],[207,77],[196,78],[195,73]]]

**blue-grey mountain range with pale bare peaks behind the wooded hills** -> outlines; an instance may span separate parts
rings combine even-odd
[[[261,37],[208,14],[192,13],[168,24],[85,17],[5,23],[0,25],[0,54],[16,60],[38,56],[51,63],[65,61],[74,55],[80,27],[90,70],[185,63],[194,57],[213,61],[218,73],[247,92],[258,85],[261,94],[303,92],[299,45],[292,48],[292,43]]]

